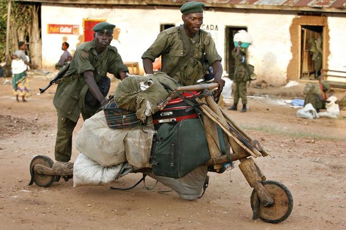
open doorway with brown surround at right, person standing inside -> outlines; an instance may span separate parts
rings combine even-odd
[[[323,57],[323,26],[301,25],[300,79],[315,79],[320,75]]]

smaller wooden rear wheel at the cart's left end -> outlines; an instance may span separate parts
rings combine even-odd
[[[48,187],[49,185],[51,185],[54,182],[55,176],[44,175],[44,174],[34,172],[33,166],[36,164],[40,164],[40,165],[44,165],[44,166],[47,166],[49,168],[52,168],[54,162],[52,161],[52,159],[50,159],[49,157],[44,156],[44,155],[35,156],[30,162],[30,174],[31,174],[31,182],[30,183],[32,184],[32,181],[33,181],[41,187]]]

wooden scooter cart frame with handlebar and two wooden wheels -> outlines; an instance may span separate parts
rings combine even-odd
[[[239,169],[253,188],[250,199],[253,219],[260,218],[265,222],[279,223],[291,214],[292,195],[284,184],[266,180],[254,158],[266,157],[268,154],[257,140],[237,126],[229,114],[217,105],[210,92],[217,87],[218,83],[178,87],[167,100],[159,105],[159,108],[162,109],[177,92],[199,91],[200,95],[205,95],[196,98],[199,109],[202,111],[204,129],[207,130],[205,135],[211,156],[205,165],[213,166],[214,170],[218,172],[223,164],[239,160]],[[226,155],[221,154],[219,141],[216,141],[218,140],[217,125],[223,131],[225,143],[229,144]],[[142,171],[149,170],[151,169]],[[30,163],[30,174],[29,184],[35,182],[39,186],[47,187],[54,181],[58,181],[60,177],[63,177],[65,181],[70,179],[73,176],[73,163],[54,163],[47,156],[36,156]]]

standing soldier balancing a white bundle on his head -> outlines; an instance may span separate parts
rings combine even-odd
[[[232,50],[232,56],[234,57],[234,76],[233,82],[235,83],[235,90],[233,93],[233,105],[228,108],[229,110],[237,110],[237,105],[239,102],[239,98],[241,98],[241,103],[243,103],[243,108],[241,108],[240,112],[247,111],[247,82],[251,80],[251,76],[254,73],[254,69],[252,65],[249,65],[246,57],[246,49],[240,48],[241,42],[238,42],[238,46],[234,47]]]

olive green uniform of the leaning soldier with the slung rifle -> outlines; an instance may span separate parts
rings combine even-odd
[[[91,70],[96,83],[107,72],[120,78],[119,73],[128,71],[117,49],[108,46],[97,55],[95,41],[80,45],[71,61],[70,69],[59,80],[53,104],[58,113],[58,131],[55,143],[55,160],[68,162],[71,158],[72,133],[82,113],[83,120],[93,116],[98,107],[92,107],[84,102],[88,91],[83,73]]]

